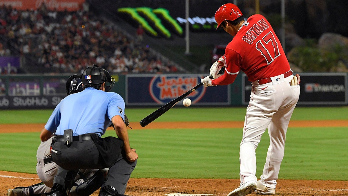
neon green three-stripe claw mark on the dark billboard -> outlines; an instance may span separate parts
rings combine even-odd
[[[138,7],[138,8],[127,7],[127,8],[118,8],[117,11],[120,13],[129,14],[134,20],[136,20],[139,24],[141,24],[147,32],[157,37],[158,36],[157,31],[154,30],[151,27],[151,25],[148,23],[148,21],[146,21],[145,18],[143,18],[140,15],[141,13],[142,15],[146,16],[147,18],[149,18],[150,21],[154,23],[155,27],[161,32],[161,34],[163,34],[166,38],[171,38],[172,37],[171,32],[169,32],[164,27],[161,20],[156,15],[156,14],[159,14],[166,20],[166,22],[168,22],[173,27],[173,29],[175,29],[175,31],[179,35],[182,35],[183,30],[181,26],[176,22],[176,20],[174,20],[174,18],[172,18],[169,15],[169,11],[167,9],[164,9],[164,8],[151,9],[149,7]]]

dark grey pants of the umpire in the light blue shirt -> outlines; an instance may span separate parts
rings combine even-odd
[[[117,146],[109,147],[117,148]],[[123,148],[118,157],[114,157],[112,153],[108,154],[109,157],[106,158],[112,161],[105,164],[105,161],[101,159],[100,150],[93,140],[74,141],[69,147],[64,142],[53,142],[51,154],[55,163],[60,166],[54,183],[63,185],[69,190],[78,169],[109,168],[102,187],[112,186],[119,194],[124,194],[130,174],[136,166],[136,161],[129,162],[127,160]]]

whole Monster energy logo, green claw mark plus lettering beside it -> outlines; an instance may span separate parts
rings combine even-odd
[[[216,22],[214,17],[193,17],[188,18],[187,20],[185,18],[177,17],[176,20],[169,14],[169,11],[164,8],[157,8],[152,9],[149,7],[137,7],[137,8],[118,8],[117,11],[119,13],[126,13],[130,15],[133,20],[138,22],[142,25],[145,31],[150,33],[152,36],[158,37],[159,33],[160,35],[165,36],[166,38],[171,38],[172,34],[171,32],[163,25],[160,18],[162,18],[168,28],[175,31],[177,35],[183,35],[183,29],[181,25],[184,25],[186,22],[189,22],[192,29],[216,29]],[[160,18],[159,18],[160,17]],[[149,22],[152,24],[150,25]],[[152,27],[155,27],[159,33],[153,29]]]

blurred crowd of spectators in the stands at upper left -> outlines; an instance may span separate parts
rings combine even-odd
[[[92,64],[112,73],[178,71],[175,63],[94,15],[88,6],[58,12],[45,4],[38,10],[2,5],[0,36],[0,55],[17,51],[38,65],[40,70],[33,66],[32,73],[81,73]],[[9,52],[11,48],[15,50]]]

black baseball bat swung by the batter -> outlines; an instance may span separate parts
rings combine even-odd
[[[162,114],[167,112],[170,108],[172,108],[177,102],[181,101],[183,98],[190,95],[191,92],[195,91],[196,89],[198,89],[202,85],[203,85],[202,82],[197,84],[195,87],[188,90],[184,94],[180,95],[179,97],[173,99],[172,101],[170,101],[170,102],[166,103],[165,105],[163,105],[162,107],[158,108],[155,112],[152,112],[151,114],[146,116],[143,120],[141,120],[139,122],[140,126],[145,127],[145,126],[149,125],[152,121],[156,120],[159,116],[161,116]]]

